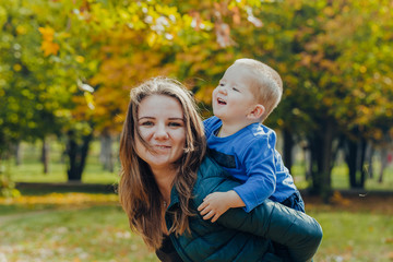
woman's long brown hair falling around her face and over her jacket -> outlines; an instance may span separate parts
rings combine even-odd
[[[183,111],[186,126],[184,153],[176,163],[178,174],[174,187],[179,194],[179,209],[172,212],[174,224],[169,234],[181,235],[189,230],[189,216],[192,188],[196,180],[196,170],[205,153],[204,130],[191,92],[176,80],[156,78],[131,90],[131,98],[120,138],[120,203],[126,211],[130,228],[142,235],[151,249],[158,249],[163,240],[163,196],[159,193],[150,166],[142,160],[135,150],[135,141],[141,138],[138,130],[138,107],[151,95],[167,95],[176,98]]]

